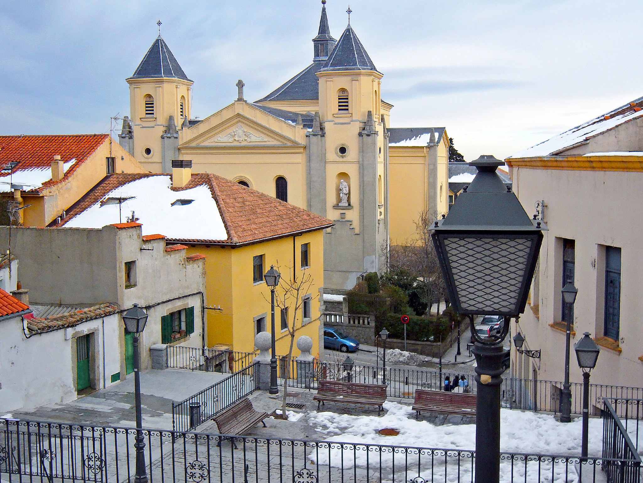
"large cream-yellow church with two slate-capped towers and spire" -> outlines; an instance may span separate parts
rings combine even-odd
[[[448,211],[446,129],[390,127],[383,73],[348,12],[336,40],[322,5],[312,64],[255,102],[237,82],[237,99],[203,120],[190,117],[194,81],[159,35],[126,79],[131,111],[119,135],[152,173],[215,173],[333,220],[323,284],[335,290],[381,272],[422,212]]]

